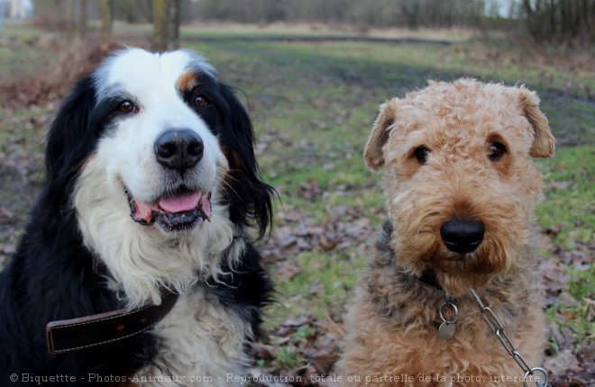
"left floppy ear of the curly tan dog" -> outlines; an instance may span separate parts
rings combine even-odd
[[[400,100],[394,98],[380,105],[380,114],[374,122],[366,148],[363,150],[363,159],[366,165],[374,170],[384,165],[384,152],[382,148],[389,140],[389,128],[395,121]]]

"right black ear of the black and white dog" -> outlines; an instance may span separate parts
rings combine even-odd
[[[255,222],[262,238],[272,224],[272,197],[276,192],[262,181],[254,155],[254,130],[248,112],[229,86],[221,84],[220,92],[229,106],[229,111],[224,113],[219,140],[230,168],[224,184],[230,218],[236,224],[252,225]]]

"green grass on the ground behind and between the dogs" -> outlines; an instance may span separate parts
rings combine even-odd
[[[201,36],[213,37],[216,33],[222,32],[189,31],[187,36],[192,40],[186,45],[201,51],[225,82],[243,91],[239,95],[250,106],[260,139],[263,175],[280,193],[282,203],[277,202],[275,209],[278,229],[294,226],[298,220],[291,220],[289,215],[296,211],[307,224],[315,226],[329,228],[337,222],[348,224],[362,218],[371,220],[371,228],[380,229],[384,217],[380,175],[369,171],[362,161],[380,103],[425,85],[427,78],[478,76],[509,85],[526,83],[541,95],[558,148],[556,157],[538,161],[547,177],[544,200],[536,207],[536,222],[542,229],[555,230],[552,242],[563,250],[586,246],[590,248],[587,253],[592,251],[595,104],[583,93],[595,89],[592,69],[587,74],[572,73],[567,67],[549,65],[547,61],[539,62],[536,68],[526,67],[510,61],[502,49],[480,47],[478,41],[452,46],[200,41]],[[237,36],[236,32],[225,33],[226,38]],[[31,55],[26,48],[0,48],[2,72],[18,69],[19,63],[27,63]],[[543,74],[548,76],[544,78]],[[568,82],[582,88],[568,90],[564,84]],[[25,109],[0,111],[2,116],[12,115],[21,123],[37,113]],[[0,125],[0,153],[9,151],[5,139],[17,132],[24,136],[25,148],[39,151],[34,145],[39,141],[38,130],[26,124],[23,129],[9,127],[3,119]],[[581,145],[570,146],[576,144]],[[11,201],[11,194],[3,192],[4,203]],[[336,215],[339,208],[352,212]],[[268,242],[272,243],[274,238]],[[299,272],[279,283],[279,303],[268,309],[266,328],[276,329],[288,318],[298,316],[341,321],[370,246],[368,241],[328,249],[313,243],[307,249],[291,250],[283,258],[298,266]],[[271,264],[273,275],[279,265]],[[581,342],[593,340],[589,316],[593,313],[595,273],[592,266],[580,270],[570,265],[565,270],[569,281],[564,292],[576,302],[557,302],[547,315],[572,329],[574,349],[578,350]],[[274,360],[277,369],[298,367],[296,346],[313,334],[307,329],[298,329],[288,343],[278,348]]]

